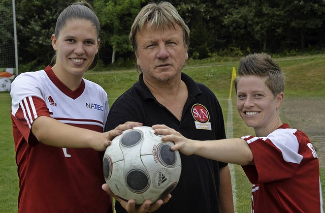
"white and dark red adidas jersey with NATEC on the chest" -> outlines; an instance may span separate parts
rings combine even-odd
[[[109,111],[105,90],[83,79],[72,91],[48,66],[20,74],[12,83],[11,97],[19,212],[112,212],[102,190],[102,152],[48,146],[31,132],[39,116],[103,132]]]

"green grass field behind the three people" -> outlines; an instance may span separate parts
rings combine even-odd
[[[286,97],[325,98],[325,55],[276,58],[286,75]],[[209,86],[220,101],[226,122],[228,99],[233,67],[238,69],[239,59],[230,62],[208,63],[192,61],[184,68],[184,72],[194,80]],[[109,104],[115,101],[127,88],[138,80],[135,70],[88,72],[86,79],[99,83],[108,93]],[[236,94],[232,89],[233,136],[253,134],[253,130],[245,126],[236,109]],[[10,118],[11,99],[8,92],[0,93],[0,212],[17,212],[18,176],[15,163],[15,151],[12,138]],[[286,120],[284,117],[283,120]],[[227,125],[225,125],[227,126]],[[233,165],[236,188],[237,212],[250,212],[251,184],[240,166]],[[325,195],[325,170],[321,168],[321,182]]]

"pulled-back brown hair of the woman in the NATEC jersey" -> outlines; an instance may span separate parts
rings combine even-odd
[[[90,21],[96,29],[97,32],[97,39],[99,39],[99,32],[100,32],[100,21],[96,14],[93,11],[93,8],[89,3],[86,1],[75,2],[74,4],[68,6],[64,9],[60,15],[57,17],[54,35],[56,38],[59,37],[61,29],[66,26],[67,21],[71,21],[74,19],[83,19]],[[88,70],[93,69],[98,62],[99,58],[99,51],[96,53],[91,65],[89,66]],[[56,54],[52,58],[52,63],[55,63]],[[52,64],[51,63],[51,64]]]

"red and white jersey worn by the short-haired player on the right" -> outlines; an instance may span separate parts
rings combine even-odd
[[[252,212],[323,212],[319,162],[307,135],[283,124],[267,137],[242,137],[255,165],[243,166],[253,185]]]

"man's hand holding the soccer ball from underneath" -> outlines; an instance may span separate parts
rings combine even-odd
[[[117,202],[119,202],[122,207],[128,213],[146,213],[153,212],[157,210],[161,205],[167,203],[172,195],[168,195],[164,200],[157,200],[155,203],[151,204],[150,200],[145,200],[141,205],[136,205],[136,200],[131,199],[128,201],[122,200],[120,197],[116,196],[107,184],[103,184],[102,189],[112,196]]]

